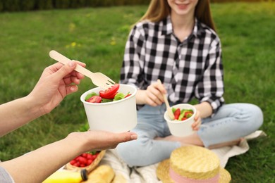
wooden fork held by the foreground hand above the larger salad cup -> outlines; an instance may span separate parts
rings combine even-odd
[[[71,61],[66,56],[63,56],[61,53],[54,50],[51,50],[49,52],[49,56],[54,60],[59,61],[60,63],[63,63],[64,65],[69,61]],[[82,75],[90,77],[90,79],[92,80],[92,83],[94,83],[94,85],[102,89],[108,89],[109,87],[113,86],[116,83],[106,75],[102,74],[101,72],[95,72],[95,73],[91,72],[90,70],[87,70],[86,68],[83,68],[81,65],[78,65],[78,64],[76,65],[75,70],[80,72]]]

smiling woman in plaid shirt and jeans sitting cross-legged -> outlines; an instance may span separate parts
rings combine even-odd
[[[138,140],[118,145],[118,155],[130,166],[151,165],[179,146],[233,145],[257,130],[263,122],[261,109],[250,103],[224,104],[223,77],[209,0],[152,0],[130,32],[121,68],[121,83],[138,88],[138,125],[133,130]],[[162,94],[171,106],[197,99],[197,132],[171,135]]]

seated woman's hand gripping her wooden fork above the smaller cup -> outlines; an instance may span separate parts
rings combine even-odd
[[[166,94],[164,85],[154,82],[149,85],[146,90],[138,90],[136,94],[137,103],[159,106],[164,103],[163,94]]]

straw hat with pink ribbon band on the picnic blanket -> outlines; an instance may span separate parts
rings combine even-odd
[[[183,146],[175,149],[170,159],[159,163],[157,177],[164,183],[231,181],[229,172],[220,167],[218,156],[200,146]]]

